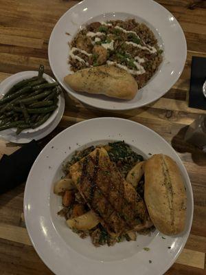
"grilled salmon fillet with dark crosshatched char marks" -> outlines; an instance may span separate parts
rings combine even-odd
[[[69,172],[89,208],[112,236],[152,225],[143,199],[122,177],[104,148],[95,148]]]

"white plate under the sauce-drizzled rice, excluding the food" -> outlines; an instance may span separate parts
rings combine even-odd
[[[65,85],[63,79],[71,73],[67,62],[68,41],[72,40],[79,29],[92,21],[128,18],[146,23],[164,51],[163,63],[148,84],[138,91],[137,96],[133,100],[117,100],[79,94]],[[152,0],[84,0],[62,15],[49,39],[49,63],[62,87],[78,100],[107,110],[134,109],[161,98],[181,76],[186,56],[187,44],[181,26],[168,10]]]

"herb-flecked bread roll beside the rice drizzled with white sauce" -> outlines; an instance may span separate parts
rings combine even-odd
[[[74,91],[86,91],[90,94],[104,94],[112,98],[133,99],[137,94],[137,82],[124,69],[102,65],[80,69],[74,74],[65,76],[67,83]]]

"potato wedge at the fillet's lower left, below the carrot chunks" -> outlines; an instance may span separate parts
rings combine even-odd
[[[92,211],[82,214],[77,218],[67,219],[69,228],[77,230],[90,230],[98,225],[99,222],[100,220]]]

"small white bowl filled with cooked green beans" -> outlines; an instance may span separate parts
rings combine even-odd
[[[19,133],[33,133],[49,126],[58,114],[60,93],[58,83],[44,73],[27,71],[10,76],[1,90],[0,131],[12,129]]]

